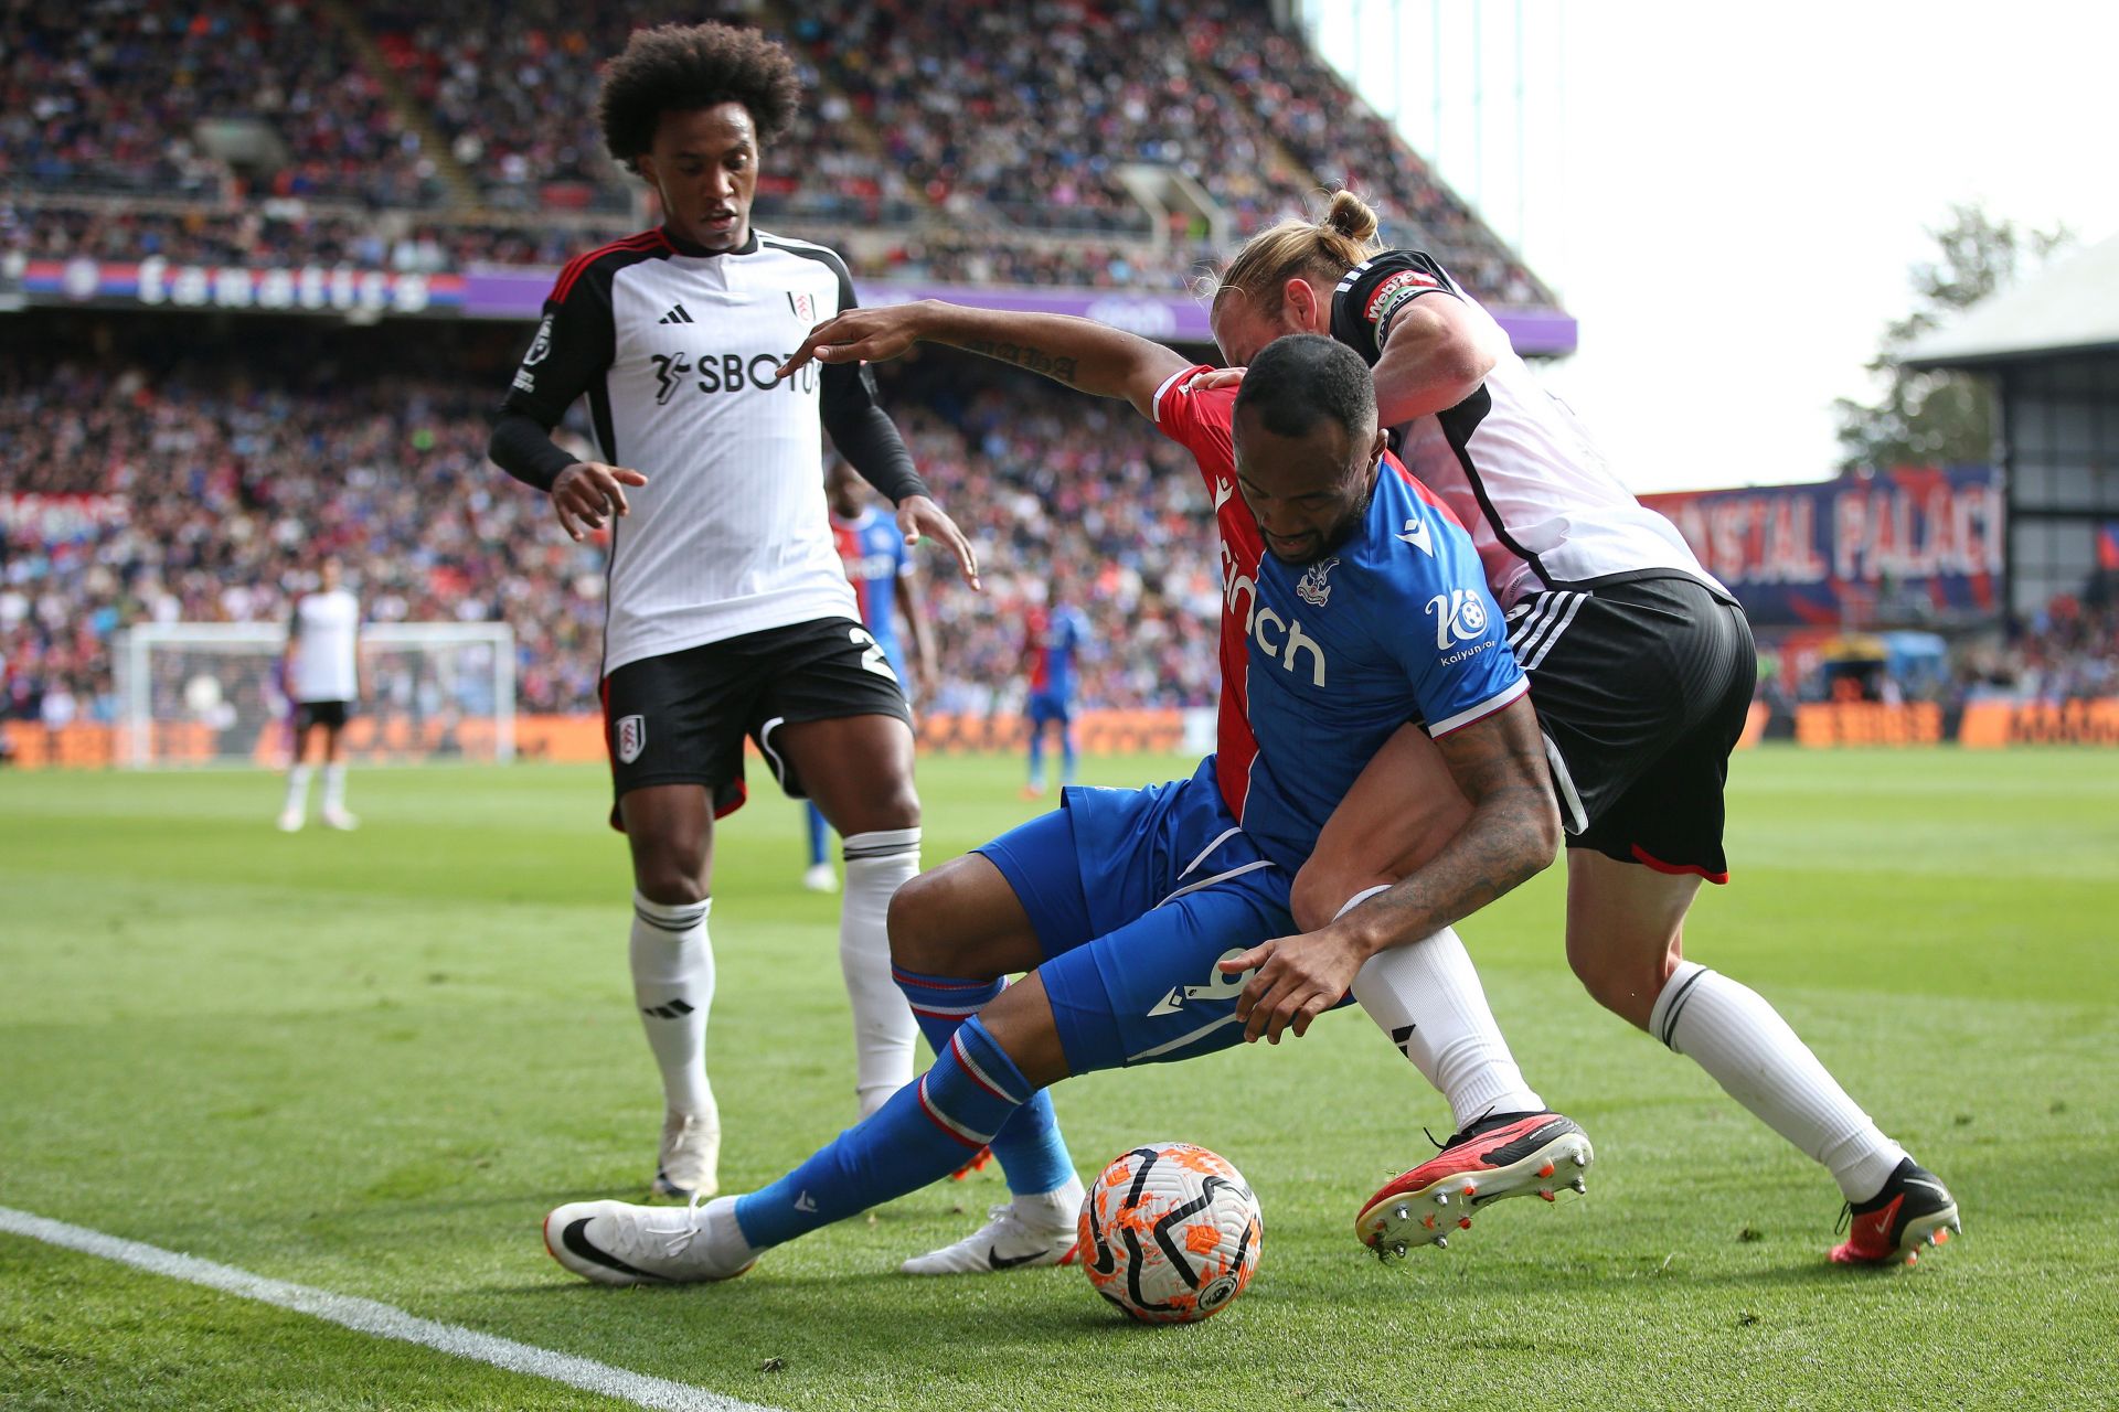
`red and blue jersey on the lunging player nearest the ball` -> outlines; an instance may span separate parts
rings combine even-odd
[[[1312,565],[1263,553],[1235,489],[1235,387],[1172,377],[1155,423],[1199,461],[1223,540],[1216,777],[1259,847],[1297,870],[1405,722],[1447,735],[1530,690],[1471,536],[1396,457],[1360,531]]]

